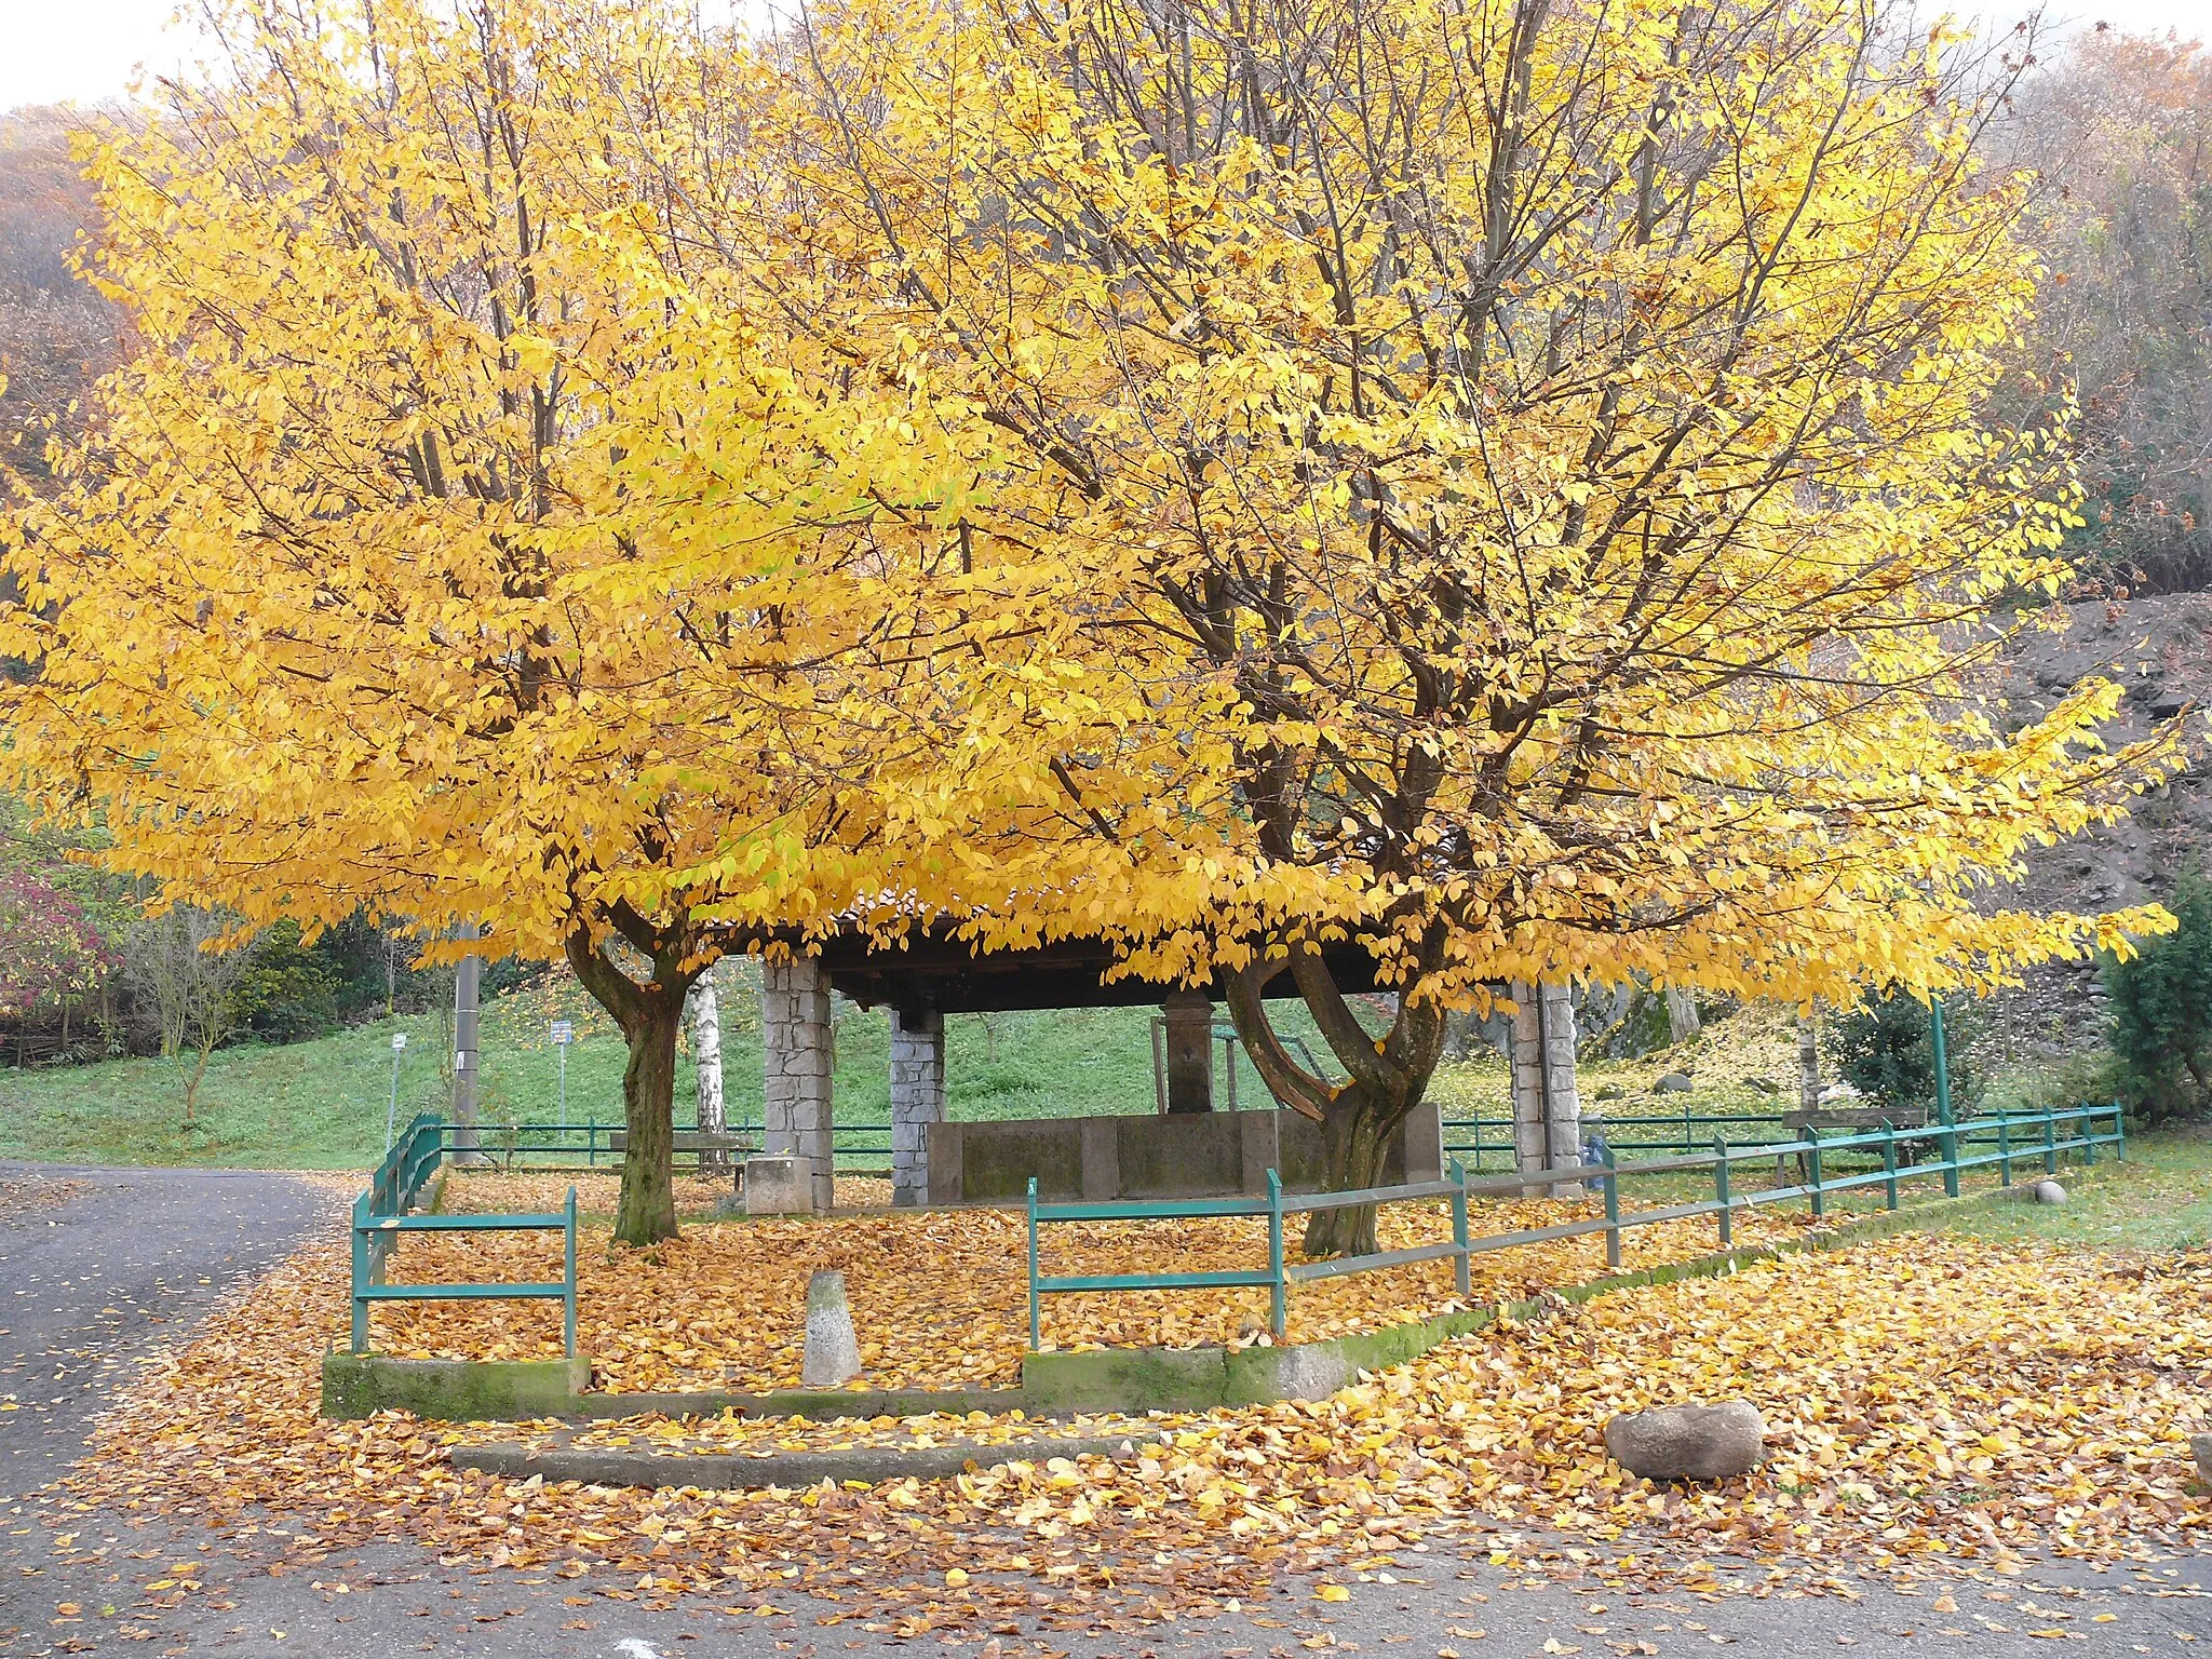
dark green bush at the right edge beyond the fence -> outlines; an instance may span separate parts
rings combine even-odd
[[[2126,962],[2104,962],[2119,1093],[2152,1124],[2212,1106],[2212,885],[2181,872],[2166,909],[2179,929],[2137,940]]]

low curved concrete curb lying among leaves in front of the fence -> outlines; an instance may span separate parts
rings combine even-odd
[[[546,1482],[575,1480],[586,1486],[697,1486],[699,1491],[750,1491],[759,1486],[818,1486],[825,1480],[876,1486],[885,1480],[942,1480],[969,1469],[1051,1458],[1139,1458],[1166,1442],[1152,1436],[1037,1438],[982,1444],[956,1440],[942,1447],[841,1447],[830,1451],[774,1451],[765,1458],[723,1453],[661,1455],[619,1447],[546,1447],[531,1451],[513,1442],[453,1447],[456,1469],[476,1469],[504,1480],[542,1475]]]

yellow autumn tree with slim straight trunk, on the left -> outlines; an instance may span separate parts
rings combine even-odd
[[[695,208],[776,184],[681,13],[221,33],[86,150],[139,349],[7,524],[9,761],[170,900],[564,956],[628,1042],[617,1237],[668,1237],[688,984],[883,883],[847,783],[918,599],[867,524],[942,509],[925,387],[732,301]]]

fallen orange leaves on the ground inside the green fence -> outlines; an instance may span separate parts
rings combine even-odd
[[[484,1175],[449,1181],[453,1208],[557,1208],[571,1177]],[[602,1190],[604,1188],[604,1190]],[[843,1197],[843,1194],[841,1194]],[[580,1179],[577,1201],[613,1208],[613,1181]],[[1595,1214],[1595,1203],[1484,1203],[1473,1232],[1513,1232]],[[1803,1232],[1803,1210],[1739,1217],[1739,1243]],[[1389,1206],[1385,1250],[1451,1237],[1442,1206]],[[1661,1221],[1621,1237],[1621,1261],[1641,1267],[1717,1248],[1712,1221]],[[807,1276],[845,1274],[869,1387],[1013,1387],[1029,1347],[1029,1232],[1018,1210],[909,1210],[825,1219],[690,1223],[653,1250],[611,1250],[608,1228],[586,1225],[577,1248],[577,1345],[613,1391],[796,1387]],[[1203,1272],[1265,1267],[1265,1221],[1057,1223],[1042,1232],[1046,1274]],[[1517,1245],[1473,1259],[1475,1305],[1517,1301],[1546,1285],[1606,1272],[1601,1234]],[[392,1279],[557,1279],[549,1234],[418,1234]],[[1298,1285],[1287,1340],[1310,1343],[1429,1318],[1460,1305],[1451,1263],[1431,1261]],[[1048,1296],[1044,1338],[1055,1347],[1197,1347],[1254,1343],[1267,1329],[1265,1290],[1115,1292]],[[555,1303],[387,1303],[372,1345],[409,1358],[533,1358],[560,1354]]]

